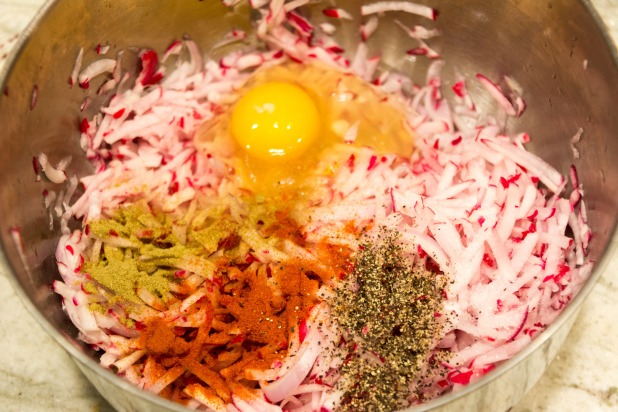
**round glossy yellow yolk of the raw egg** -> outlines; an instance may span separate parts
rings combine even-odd
[[[311,96],[283,82],[262,84],[232,112],[231,133],[252,157],[274,163],[300,157],[315,141],[320,116]]]

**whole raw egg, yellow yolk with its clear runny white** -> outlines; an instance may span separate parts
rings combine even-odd
[[[413,137],[399,104],[325,65],[265,67],[204,124],[197,145],[227,159],[238,187],[264,198],[299,199],[323,186],[341,150],[410,156]]]

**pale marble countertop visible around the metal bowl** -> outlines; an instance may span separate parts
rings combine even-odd
[[[0,0],[0,67],[42,3]],[[592,3],[618,43],[618,0]],[[614,255],[557,358],[511,412],[618,410],[618,236],[613,243]],[[0,267],[0,410],[113,411],[25,309],[6,270]]]

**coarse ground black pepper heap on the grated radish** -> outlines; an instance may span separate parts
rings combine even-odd
[[[354,260],[349,282],[337,290],[332,314],[349,334],[340,372],[342,411],[387,412],[408,405],[440,334],[445,277],[411,267],[398,235],[380,230]]]

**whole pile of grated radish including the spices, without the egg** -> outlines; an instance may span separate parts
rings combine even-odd
[[[410,37],[407,54],[432,60],[424,85],[369,54],[385,13],[430,21],[435,10],[365,4],[360,42],[346,52],[333,35],[359,11],[326,8],[327,21],[314,25],[308,3],[250,1],[265,48],[220,61],[184,39],[162,56],[139,50],[131,78],[124,52],[82,67],[81,50],[71,84],[104,78],[98,93],[111,96],[81,121],[96,172],[78,179],[70,159],[34,159],[38,176],[65,185],[44,201],[50,228],[59,221],[63,232],[54,291],[80,339],[103,367],[190,409],[391,411],[426,402],[517,354],[592,270],[575,168],[569,191],[525,149],[527,133],[503,133],[525,110],[516,87],[472,79],[501,108],[496,117],[477,111],[468,79],[450,85],[447,100],[444,62],[429,45],[439,31],[421,25],[397,22]],[[233,30],[216,47],[247,39]],[[356,144],[358,124],[346,120],[303,177],[302,196],[256,195],[229,144],[204,133],[218,130],[256,73],[294,65],[308,68],[305,81],[320,81],[310,77],[316,67],[386,96],[378,104],[404,119],[411,154]],[[333,99],[364,98],[336,84]],[[380,121],[379,112],[365,115]],[[69,229],[72,218],[79,230]]]

